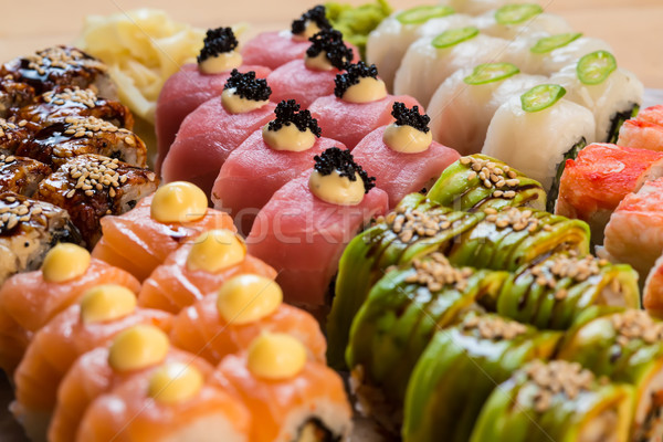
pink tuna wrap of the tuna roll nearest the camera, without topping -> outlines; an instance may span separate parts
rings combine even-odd
[[[260,211],[246,239],[249,253],[272,265],[285,301],[317,309],[348,242],[372,217],[387,212],[383,190],[371,189],[357,206],[315,197],[311,171],[283,186]]]

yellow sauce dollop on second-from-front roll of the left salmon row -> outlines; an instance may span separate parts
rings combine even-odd
[[[136,325],[115,337],[108,352],[108,364],[117,371],[140,370],[166,359],[168,336],[151,325]]]

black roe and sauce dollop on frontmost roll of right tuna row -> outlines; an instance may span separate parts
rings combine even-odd
[[[427,150],[433,143],[433,133],[429,129],[430,118],[419,113],[419,106],[408,109],[403,103],[393,103],[391,115],[396,122],[385,129],[382,140],[391,149],[403,154],[418,154]]]

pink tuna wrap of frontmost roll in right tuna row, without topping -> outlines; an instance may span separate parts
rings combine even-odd
[[[436,141],[418,154],[392,150],[382,141],[386,128],[368,134],[355,147],[352,156],[370,177],[376,177],[376,183],[389,194],[392,209],[406,194],[430,189],[442,171],[461,156]]]

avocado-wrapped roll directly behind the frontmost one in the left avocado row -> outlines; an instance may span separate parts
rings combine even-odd
[[[495,387],[525,364],[549,359],[561,337],[496,315],[470,314],[438,330],[408,385],[403,441],[467,441]]]

